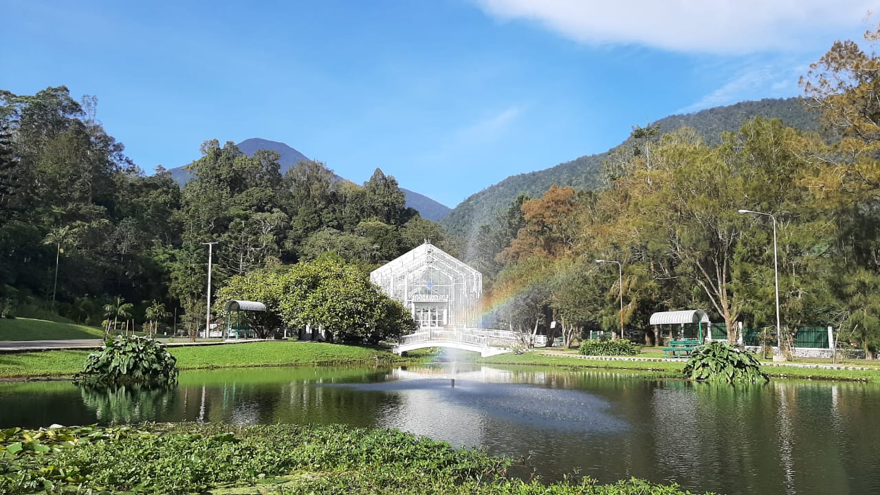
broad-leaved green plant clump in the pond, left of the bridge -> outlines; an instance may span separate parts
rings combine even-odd
[[[171,385],[177,381],[177,358],[165,344],[144,336],[108,339],[100,351],[85,359],[74,375],[82,385]]]

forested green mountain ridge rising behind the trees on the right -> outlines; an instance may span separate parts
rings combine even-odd
[[[780,119],[785,125],[796,129],[819,129],[818,115],[810,113],[797,98],[742,101],[693,114],[670,115],[649,125],[659,126],[661,135],[682,127],[692,127],[708,144],[718,144],[722,132],[735,132],[744,121],[755,116]],[[469,236],[490,218],[495,218],[495,215],[507,208],[520,194],[542,196],[554,184],[579,189],[597,188],[608,153],[631,144],[631,140],[627,139],[609,151],[585,155],[536,172],[511,175],[468,196],[443,218],[440,225],[451,233]]]

